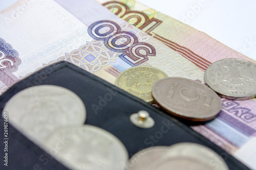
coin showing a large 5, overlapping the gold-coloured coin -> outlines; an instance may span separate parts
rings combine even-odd
[[[165,111],[193,121],[206,121],[221,110],[220,97],[209,87],[194,80],[169,77],[152,88],[155,102]]]

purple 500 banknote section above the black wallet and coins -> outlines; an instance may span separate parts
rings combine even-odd
[[[24,12],[18,15],[20,9]],[[113,84],[121,71],[137,65],[203,81],[203,71],[195,64],[92,0],[22,1],[2,11],[0,19],[3,51],[16,52],[3,55],[3,65],[8,63],[3,60],[12,62],[2,69],[2,92],[14,81],[60,60]]]

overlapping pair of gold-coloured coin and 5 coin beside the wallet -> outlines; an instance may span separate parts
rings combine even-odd
[[[196,81],[167,77],[154,67],[137,66],[117,77],[118,87],[148,103],[156,103],[170,114],[192,121],[206,121],[221,109],[219,96]]]

